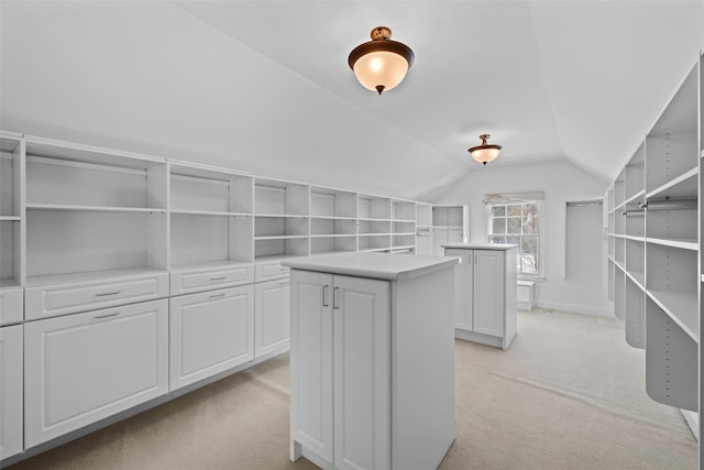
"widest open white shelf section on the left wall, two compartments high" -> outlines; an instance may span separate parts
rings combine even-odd
[[[165,271],[166,161],[26,138],[26,286]]]

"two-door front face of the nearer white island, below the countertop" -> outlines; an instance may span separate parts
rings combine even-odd
[[[292,433],[336,468],[391,468],[389,283],[298,274]]]

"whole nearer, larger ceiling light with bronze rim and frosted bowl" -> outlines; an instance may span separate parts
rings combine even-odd
[[[372,41],[352,50],[348,64],[364,88],[381,95],[402,83],[415,56],[406,44],[391,40],[392,30],[386,26],[374,28],[370,36]]]

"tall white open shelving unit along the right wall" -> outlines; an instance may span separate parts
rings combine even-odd
[[[615,314],[626,319],[627,342],[646,350],[648,395],[682,409],[697,439],[704,282],[701,62],[604,196]]]

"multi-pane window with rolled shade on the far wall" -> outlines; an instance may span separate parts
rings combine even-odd
[[[542,276],[542,193],[487,195],[487,239],[517,244],[518,275]]]

